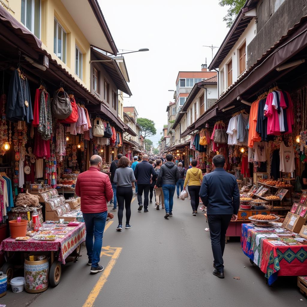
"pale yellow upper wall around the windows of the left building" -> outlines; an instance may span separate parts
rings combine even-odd
[[[6,10],[21,23],[21,0],[3,0],[3,2],[9,7],[9,9],[7,9],[4,6]],[[67,33],[66,64],[53,53],[54,18],[57,19]],[[52,59],[56,60],[57,63],[65,68],[76,80],[90,90],[91,46],[60,0],[41,0],[40,32],[40,39],[43,43],[42,48],[50,53]],[[76,45],[83,53],[82,80],[75,74]]]

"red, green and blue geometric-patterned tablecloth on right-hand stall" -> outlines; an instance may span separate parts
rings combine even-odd
[[[265,228],[263,228],[265,231]],[[307,245],[274,246],[252,224],[242,224],[241,247],[268,278],[268,284],[278,276],[307,275]],[[269,231],[274,233],[274,231]]]

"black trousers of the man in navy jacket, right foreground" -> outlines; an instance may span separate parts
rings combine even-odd
[[[231,217],[232,214],[208,214],[212,253],[218,271],[223,271],[224,269],[223,254],[225,249],[226,231]]]

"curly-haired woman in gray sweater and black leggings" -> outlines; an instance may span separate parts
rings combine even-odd
[[[124,212],[124,204],[126,208],[126,229],[131,228],[130,216],[131,216],[131,200],[133,196],[132,188],[134,188],[134,173],[133,170],[128,167],[130,161],[127,157],[121,157],[118,162],[118,169],[115,171],[113,182],[117,183],[116,198],[118,204],[118,226],[117,231],[122,230],[122,216]]]

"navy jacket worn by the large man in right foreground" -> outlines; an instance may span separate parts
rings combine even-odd
[[[207,207],[207,214],[238,214],[240,193],[237,180],[222,167],[204,176],[199,196]]]

